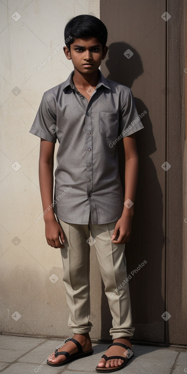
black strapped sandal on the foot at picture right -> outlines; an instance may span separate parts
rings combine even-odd
[[[99,367],[99,366],[96,366],[96,371],[97,372],[113,372],[113,371],[117,371],[117,370],[120,370],[122,369],[127,363],[128,361],[130,361],[130,359],[133,357],[134,353],[133,351],[129,348],[128,345],[125,345],[125,344],[122,344],[122,343],[112,343],[108,346],[108,349],[110,348],[110,346],[112,345],[120,345],[122,346],[123,348],[125,348],[126,350],[128,350],[128,353],[122,357],[122,356],[110,356],[110,357],[107,357],[106,355],[102,355],[101,358],[104,358],[105,361],[108,361],[108,360],[111,360],[111,359],[115,359],[115,358],[120,358],[121,360],[123,360],[123,364],[121,364],[120,366],[114,366],[114,367]],[[130,351],[130,352],[129,352]]]

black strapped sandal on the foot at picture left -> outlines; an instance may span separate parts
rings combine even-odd
[[[87,356],[92,355],[93,350],[83,352],[81,344],[76,339],[71,338],[71,339],[69,339],[69,341],[73,341],[73,343],[76,344],[76,346],[78,348],[78,352],[74,353],[73,355],[70,355],[69,352],[65,352],[65,351],[58,352],[58,350],[55,350],[55,357],[57,357],[59,355],[65,355],[67,359],[65,361],[59,362],[58,364],[54,364],[54,363],[47,360],[46,362],[47,362],[48,365],[50,365],[50,366],[63,366],[63,365],[66,365],[67,363],[69,363],[73,360],[77,360],[78,358],[83,358],[83,357],[87,357]]]

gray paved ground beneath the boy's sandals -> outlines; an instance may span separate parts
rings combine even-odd
[[[96,373],[95,366],[109,344],[94,343],[94,354],[68,365],[51,367],[46,358],[63,342],[60,339],[42,339],[0,335],[0,372],[5,374],[87,374]],[[118,371],[120,374],[185,374],[187,350],[133,345],[135,357]]]

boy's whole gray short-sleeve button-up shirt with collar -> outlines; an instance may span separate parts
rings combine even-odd
[[[93,224],[113,222],[121,217],[124,203],[116,144],[144,126],[128,87],[105,79],[98,70],[88,102],[76,90],[73,74],[43,94],[30,132],[59,141],[56,216],[88,224],[91,212]]]

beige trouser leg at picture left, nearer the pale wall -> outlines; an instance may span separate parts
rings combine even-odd
[[[90,317],[90,237],[89,225],[66,223],[60,219],[64,231],[65,248],[61,249],[63,281],[70,311],[68,326],[74,334],[89,332]]]

